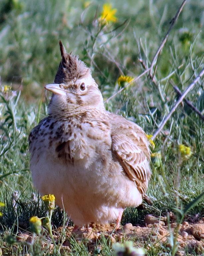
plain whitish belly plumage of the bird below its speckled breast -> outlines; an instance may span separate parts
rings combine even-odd
[[[74,163],[61,161],[55,152],[57,144],[52,147],[48,144],[46,138],[31,154],[34,185],[41,195],[54,194],[57,205],[67,211],[75,224],[115,220],[125,206],[141,204],[136,185],[124,175],[120,164],[113,162],[104,144],[86,148],[90,154],[83,159],[76,157],[79,160]],[[80,143],[77,147],[80,154],[79,147]],[[105,157],[101,157],[100,148],[106,152]]]

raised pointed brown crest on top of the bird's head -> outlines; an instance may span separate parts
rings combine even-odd
[[[83,61],[79,60],[78,56],[67,53],[61,41],[59,41],[59,44],[62,60],[55,76],[54,82],[56,84],[76,81],[91,74],[90,68]]]

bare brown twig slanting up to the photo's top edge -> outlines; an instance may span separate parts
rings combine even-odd
[[[178,16],[179,16],[180,12],[182,11],[182,9],[183,9],[183,7],[184,7],[186,1],[187,1],[187,0],[184,0],[184,1],[183,1],[183,3],[181,4],[180,8],[178,9],[176,15],[175,15],[174,18],[171,20],[171,22],[170,22],[171,25],[170,25],[170,27],[169,27],[169,30],[167,31],[167,33],[166,33],[164,39],[162,40],[162,42],[161,42],[161,44],[160,44],[158,50],[156,51],[156,53],[155,53],[155,55],[154,55],[154,58],[153,58],[153,60],[152,60],[152,62],[151,62],[150,68],[149,68],[149,77],[150,77],[152,80],[153,80],[153,78],[154,78],[154,76],[152,75],[153,66],[154,66],[155,62],[157,61],[158,55],[161,53],[161,51],[162,51],[162,49],[163,49],[163,47],[164,47],[164,45],[165,45],[165,43],[166,43],[166,41],[167,41],[167,38],[168,38],[168,36],[169,36],[169,34],[170,34],[172,28],[174,27],[174,25],[175,25],[175,23],[176,23],[176,21],[177,21],[177,18],[178,18]],[[154,72],[154,73],[155,73],[155,72]]]

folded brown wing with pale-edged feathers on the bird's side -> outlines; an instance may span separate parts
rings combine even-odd
[[[110,115],[112,151],[143,195],[151,176],[149,141],[141,127],[118,115]]]

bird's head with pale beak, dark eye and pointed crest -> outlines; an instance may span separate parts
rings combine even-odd
[[[60,44],[62,60],[55,81],[45,86],[53,92],[49,113],[70,116],[84,113],[91,108],[102,108],[102,94],[91,75],[91,70],[77,56],[68,54]]]

